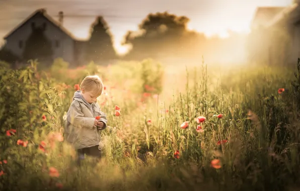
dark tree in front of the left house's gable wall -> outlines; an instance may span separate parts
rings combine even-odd
[[[38,59],[52,60],[53,50],[51,41],[45,35],[45,26],[32,26],[32,33],[29,35],[23,52],[25,60]]]

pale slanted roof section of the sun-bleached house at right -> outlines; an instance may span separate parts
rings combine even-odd
[[[252,27],[267,25],[276,14],[284,9],[285,7],[258,7],[252,20]]]

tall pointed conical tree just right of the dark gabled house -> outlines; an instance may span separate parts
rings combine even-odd
[[[116,58],[109,27],[103,17],[98,17],[91,27],[91,37],[88,41],[86,59],[103,61]]]

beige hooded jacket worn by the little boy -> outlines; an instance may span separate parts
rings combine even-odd
[[[94,128],[95,118],[107,126],[106,115],[100,111],[96,103],[89,104],[81,95],[81,91],[74,93],[73,102],[66,114],[64,139],[72,144],[75,149],[99,145],[100,132]]]

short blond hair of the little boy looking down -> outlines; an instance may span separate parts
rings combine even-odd
[[[95,96],[100,96],[103,91],[103,83],[98,75],[89,75],[81,82],[80,88],[92,92]]]

